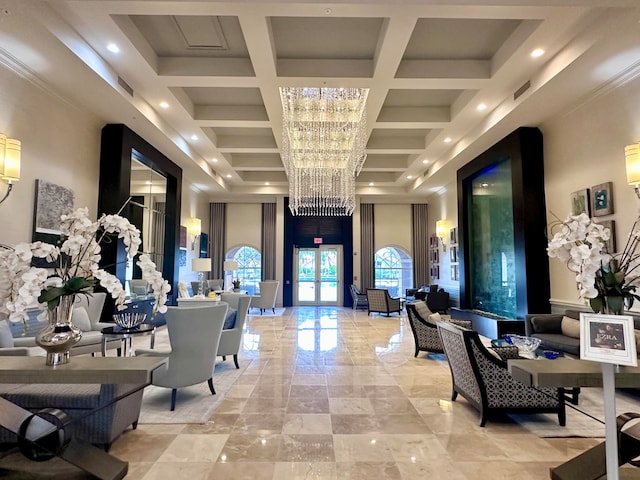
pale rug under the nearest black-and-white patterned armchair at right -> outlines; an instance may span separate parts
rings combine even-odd
[[[567,425],[558,424],[558,416],[551,413],[535,415],[511,414],[513,420],[541,438],[553,437],[587,437],[604,438],[604,423],[592,419],[588,415],[575,410],[580,409],[604,422],[604,401],[602,389],[583,388],[580,392],[578,405],[567,402]],[[640,412],[640,394],[624,391],[616,392],[616,412]]]

